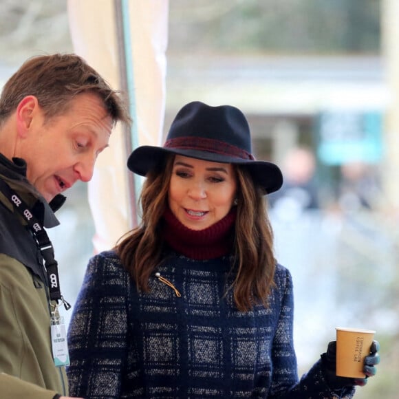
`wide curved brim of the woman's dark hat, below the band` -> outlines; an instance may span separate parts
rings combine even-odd
[[[268,194],[274,193],[274,191],[279,190],[283,185],[281,170],[279,166],[272,162],[243,160],[233,156],[193,149],[168,149],[153,146],[138,147],[129,156],[127,167],[133,173],[145,176],[151,169],[160,164],[164,155],[168,153],[211,162],[245,165],[250,171],[255,183],[263,187]]]

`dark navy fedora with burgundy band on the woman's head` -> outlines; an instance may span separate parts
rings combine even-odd
[[[276,164],[255,160],[246,117],[230,105],[211,107],[200,101],[184,105],[171,124],[164,146],[136,148],[127,166],[132,172],[145,176],[166,153],[245,165],[255,184],[262,186],[266,193],[277,191],[283,184]]]

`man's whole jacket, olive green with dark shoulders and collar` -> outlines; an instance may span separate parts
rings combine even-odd
[[[19,174],[25,171],[21,166],[23,164],[14,166],[0,154],[0,178],[28,204],[35,204],[38,200],[44,202],[43,198],[34,195],[34,188],[25,180],[25,173]],[[51,219],[50,225],[54,226],[56,218],[47,203],[44,203],[42,210],[43,221]],[[44,216],[44,213],[47,215]],[[10,202],[0,193],[2,399],[52,399],[56,393],[68,395],[65,367],[56,367],[52,357],[46,280],[32,235],[23,226],[22,219],[14,215]]]

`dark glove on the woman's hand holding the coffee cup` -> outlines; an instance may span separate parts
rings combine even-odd
[[[344,387],[350,387],[358,385],[363,387],[367,384],[367,378],[375,376],[377,369],[376,365],[380,363],[380,344],[378,341],[373,341],[370,348],[370,353],[365,357],[365,363],[363,371],[365,378],[347,378],[336,376],[336,341],[328,343],[327,352],[321,355],[321,361],[323,365],[323,371],[325,379],[331,389],[341,389]]]

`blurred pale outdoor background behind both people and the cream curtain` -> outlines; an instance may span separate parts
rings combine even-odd
[[[399,389],[398,3],[169,1],[164,131],[191,100],[248,116],[257,158],[285,175],[269,203],[276,256],[294,278],[300,372],[334,327],[374,329],[382,363],[356,393],[366,399]],[[0,6],[0,84],[28,56],[73,50],[65,1]],[[86,187],[67,196],[49,233],[73,303],[94,226]]]

